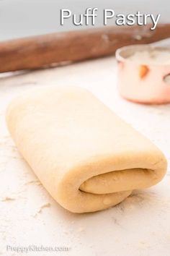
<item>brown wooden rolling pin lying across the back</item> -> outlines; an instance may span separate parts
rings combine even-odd
[[[130,44],[153,43],[170,37],[170,24],[102,27],[76,30],[0,43],[0,72],[37,69],[63,61],[81,61],[115,54]]]

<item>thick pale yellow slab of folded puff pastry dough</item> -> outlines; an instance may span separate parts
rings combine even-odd
[[[83,88],[30,90],[6,120],[40,182],[73,213],[117,205],[166,173],[163,153]]]

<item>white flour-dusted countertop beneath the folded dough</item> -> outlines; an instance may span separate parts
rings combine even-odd
[[[0,75],[0,255],[168,256],[170,173],[115,208],[73,214],[42,187],[9,136],[9,101],[29,88],[78,85],[91,90],[128,124],[150,138],[170,161],[170,105],[144,106],[117,94],[115,58]],[[49,98],[50,101],[50,98]],[[68,247],[67,252],[17,252],[13,247]],[[6,247],[8,250],[6,250]]]

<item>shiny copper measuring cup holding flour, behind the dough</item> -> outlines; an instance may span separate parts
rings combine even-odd
[[[123,98],[138,103],[170,103],[170,64],[143,63],[129,59],[135,51],[150,51],[153,46],[125,46],[116,52],[118,90]],[[158,51],[170,48],[155,47]]]

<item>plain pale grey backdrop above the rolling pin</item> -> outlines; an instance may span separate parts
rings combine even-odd
[[[53,33],[59,30],[80,29],[70,21],[60,25],[60,9],[84,13],[87,7],[97,7],[97,26],[102,25],[103,9],[117,13],[161,14],[162,22],[169,22],[169,0],[0,0],[0,40],[28,35]],[[113,21],[110,22],[112,24]]]

